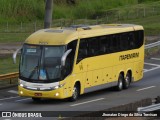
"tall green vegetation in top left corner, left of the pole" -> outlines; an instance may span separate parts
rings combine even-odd
[[[0,0],[0,22],[43,19],[44,0]]]

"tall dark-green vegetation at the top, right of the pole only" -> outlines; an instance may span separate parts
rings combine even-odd
[[[60,4],[54,6],[53,17],[56,19],[72,18],[96,18],[101,11],[126,5],[136,5],[137,0],[81,0],[75,6]]]

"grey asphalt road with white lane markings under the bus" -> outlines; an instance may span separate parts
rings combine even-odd
[[[117,92],[113,88],[104,89],[84,94],[76,102],[42,100],[35,103],[31,98],[19,97],[17,88],[9,88],[0,90],[0,111],[99,111],[145,98],[156,98],[160,96],[159,86],[160,55],[145,60],[144,78],[131,84],[127,90]]]

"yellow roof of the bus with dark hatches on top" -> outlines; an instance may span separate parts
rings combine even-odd
[[[143,30],[143,27],[133,24],[101,24],[91,26],[75,25],[67,28],[49,28],[33,33],[26,39],[25,43],[35,45],[65,45],[78,38],[88,38],[134,30]]]

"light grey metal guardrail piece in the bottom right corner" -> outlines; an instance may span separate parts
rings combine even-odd
[[[159,104],[150,105],[150,106],[147,106],[147,107],[139,107],[137,109],[137,111],[139,113],[152,112],[152,111],[156,111],[156,110],[160,110],[160,103]]]

